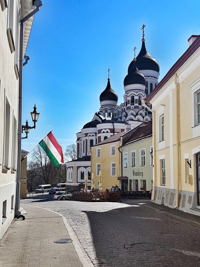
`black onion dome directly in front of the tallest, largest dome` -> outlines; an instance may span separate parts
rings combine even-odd
[[[132,62],[133,64],[131,65],[131,69],[129,70],[128,74],[124,78],[124,87],[129,84],[145,85],[146,84],[145,76],[141,72],[139,72],[137,65],[136,65],[136,61],[133,60]]]

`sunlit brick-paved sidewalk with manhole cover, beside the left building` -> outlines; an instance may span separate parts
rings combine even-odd
[[[0,267],[85,267],[73,243],[53,241],[69,238],[63,218],[35,206],[20,205],[25,221],[14,220],[0,241]]]

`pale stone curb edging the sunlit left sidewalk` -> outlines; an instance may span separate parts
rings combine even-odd
[[[42,208],[42,207],[38,207],[38,206],[34,206],[34,205],[30,205],[30,204],[22,204],[22,205],[29,205],[29,206],[37,207],[38,209],[49,210],[49,209],[46,209],[46,208]],[[62,219],[63,219],[63,223],[64,223],[64,225],[65,225],[65,227],[66,227],[66,230],[67,230],[67,232],[68,232],[68,234],[69,234],[70,239],[73,240],[73,241],[72,241],[72,244],[74,245],[74,248],[75,248],[75,250],[76,250],[76,252],[77,252],[77,255],[78,255],[79,260],[80,260],[80,262],[82,263],[83,267],[94,267],[94,265],[93,265],[93,263],[91,262],[90,258],[88,257],[88,260],[90,261],[90,264],[89,264],[89,263],[88,263],[88,260],[87,260],[86,257],[83,255],[83,252],[82,252],[81,249],[80,249],[80,246],[81,246],[81,245],[79,245],[78,242],[75,240],[75,238],[77,238],[77,237],[76,237],[76,234],[75,234],[73,228],[68,224],[68,222],[67,222],[65,216],[63,216],[61,213],[58,213],[57,211],[52,211],[52,210],[49,210],[49,211],[51,211],[51,212],[53,212],[53,213],[57,213],[58,215],[60,215],[60,217],[62,217]],[[82,249],[83,249],[83,248],[82,248]]]

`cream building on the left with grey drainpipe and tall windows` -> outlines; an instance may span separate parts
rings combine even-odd
[[[0,238],[15,209],[20,20],[33,9],[30,0],[0,0]],[[33,17],[24,23],[24,55],[32,22]]]

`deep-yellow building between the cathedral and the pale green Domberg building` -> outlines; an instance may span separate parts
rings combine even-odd
[[[94,173],[94,186],[98,187],[99,171],[102,172],[102,191],[117,184],[120,176],[119,143],[124,132],[119,132],[91,147],[91,173]]]

